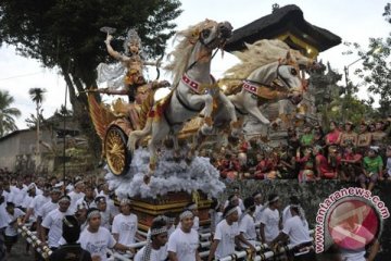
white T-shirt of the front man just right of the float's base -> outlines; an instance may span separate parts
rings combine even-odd
[[[239,235],[238,222],[228,225],[226,220],[222,220],[215,231],[214,239],[219,240],[215,256],[218,259],[235,252],[235,237]]]

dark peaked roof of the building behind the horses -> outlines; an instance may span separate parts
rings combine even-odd
[[[272,14],[234,30],[225,50],[242,50],[244,42],[273,39],[287,32],[315,47],[319,52],[341,44],[341,37],[306,22],[302,10],[294,4],[289,4],[275,9]]]

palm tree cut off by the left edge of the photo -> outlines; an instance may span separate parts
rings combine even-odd
[[[7,90],[0,90],[0,137],[17,129],[14,117],[21,116],[21,111],[10,107],[13,102],[14,98]]]

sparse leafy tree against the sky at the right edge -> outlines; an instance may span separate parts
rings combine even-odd
[[[383,16],[391,23],[391,3],[384,7]],[[363,60],[363,67],[357,69],[355,74],[363,79],[370,92],[380,97],[378,115],[386,117],[391,112],[391,33],[386,38],[369,38],[369,52],[364,51],[357,44],[353,47]]]

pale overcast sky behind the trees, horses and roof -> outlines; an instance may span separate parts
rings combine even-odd
[[[181,2],[184,12],[176,20],[177,29],[186,28],[204,18],[229,21],[234,28],[239,28],[269,14],[274,3],[280,7],[293,3],[301,8],[307,22],[332,32],[340,36],[342,41],[356,41],[363,48],[367,47],[369,37],[387,37],[390,33],[390,24],[381,16],[387,0],[184,0]],[[97,32],[97,34],[101,33]],[[356,59],[353,55],[342,55],[344,50],[346,48],[343,45],[333,47],[320,53],[319,59],[329,61],[333,69],[342,73],[343,66]],[[236,59],[229,53],[223,59],[216,55],[212,63],[212,73],[219,77],[235,62]],[[350,75],[353,74],[355,66],[360,66],[360,63],[350,67]],[[35,113],[35,105],[28,97],[28,89],[31,87],[42,87],[48,90],[43,102],[46,117],[64,103],[65,83],[55,70],[43,69],[38,61],[17,55],[13,47],[2,46],[0,89],[9,90],[15,98],[13,107],[22,111],[22,116],[17,119],[20,128],[25,128],[24,120],[29,113]],[[362,89],[360,96],[365,97],[366,91]]]

